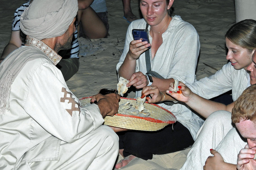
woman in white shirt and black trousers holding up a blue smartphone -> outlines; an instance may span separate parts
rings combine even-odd
[[[173,78],[186,83],[195,81],[195,69],[200,42],[197,31],[180,16],[170,16],[174,0],[140,0],[143,19],[133,21],[126,34],[123,54],[117,64],[119,77],[129,79],[127,86],[134,86],[136,97],[142,88],[157,86],[168,89]],[[149,42],[133,40],[133,29],[146,29]],[[148,49],[148,47],[150,47]],[[149,50],[151,70],[163,78],[147,76],[145,51]],[[156,132],[125,131],[119,134],[120,153],[125,157],[116,168],[123,167],[133,158],[152,159],[153,154],[166,154],[182,150],[194,143],[196,132],[203,120],[186,105],[160,103],[170,110],[177,122]]]

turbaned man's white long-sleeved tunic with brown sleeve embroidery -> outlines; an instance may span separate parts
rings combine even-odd
[[[31,161],[58,160],[60,140],[74,142],[104,122],[96,104],[80,107],[61,71],[39,47],[17,50],[25,49],[36,51],[38,58],[28,61],[13,81],[10,110],[6,106],[0,116],[0,169],[18,169],[27,151],[33,151]],[[29,55],[20,57],[26,60]],[[19,54],[11,53],[6,60],[12,57]],[[44,142],[50,136],[55,136],[53,141]],[[33,150],[35,146],[41,149]]]

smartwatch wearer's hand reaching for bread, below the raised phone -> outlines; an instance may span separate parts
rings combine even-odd
[[[133,73],[131,78],[129,79],[129,83],[127,83],[127,87],[134,86],[136,89],[140,89],[146,87],[148,85],[148,80],[146,75],[142,72]]]

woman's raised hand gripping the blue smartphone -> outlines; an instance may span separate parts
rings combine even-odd
[[[142,40],[134,40],[130,42],[128,56],[130,59],[138,59],[140,55],[145,52],[151,44]]]

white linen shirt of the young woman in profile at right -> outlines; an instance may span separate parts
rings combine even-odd
[[[242,92],[249,87],[250,78],[245,69],[236,70],[229,62],[214,75],[186,85],[192,92],[205,99],[211,99],[232,90],[232,99],[236,101]]]

